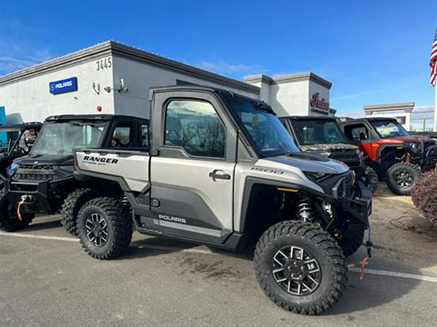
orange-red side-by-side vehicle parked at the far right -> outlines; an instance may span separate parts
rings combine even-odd
[[[367,164],[396,194],[409,195],[422,172],[437,162],[436,140],[415,137],[396,119],[374,117],[340,123],[346,138],[366,154]]]

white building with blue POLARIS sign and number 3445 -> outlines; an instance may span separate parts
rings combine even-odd
[[[149,117],[149,89],[200,84],[269,103],[280,116],[333,115],[331,83],[313,73],[249,76],[244,82],[114,41],[106,41],[0,77],[8,124],[60,114]]]

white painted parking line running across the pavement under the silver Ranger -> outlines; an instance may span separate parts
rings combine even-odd
[[[76,237],[61,237],[61,236],[35,235],[35,234],[24,234],[24,233],[0,232],[0,236],[35,238],[35,239],[64,241],[64,242],[79,242],[79,238],[76,238]],[[208,249],[195,249],[195,248],[194,249],[183,249],[183,248],[174,248],[174,247],[167,247],[167,246],[160,246],[160,245],[138,245],[135,247],[138,249],[151,249],[151,250],[160,250],[160,251],[172,251],[172,252],[177,251],[177,252],[189,252],[189,253],[200,253],[200,254],[218,254],[218,253],[213,252],[213,251],[208,250]],[[354,264],[348,265],[348,268],[349,268],[349,271],[351,271],[351,272],[361,273],[361,268],[357,268],[356,265],[354,265]],[[437,283],[436,277],[408,274],[408,273],[403,273],[403,272],[398,272],[398,271],[364,268],[364,273],[370,274],[370,275],[398,277],[398,278],[423,280],[423,281],[430,281],[433,283]]]

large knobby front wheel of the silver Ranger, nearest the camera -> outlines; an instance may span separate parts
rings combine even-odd
[[[303,259],[300,261],[292,259],[292,257],[299,258],[301,250],[303,250]],[[285,221],[273,225],[260,237],[253,260],[255,275],[264,293],[274,303],[288,311],[319,314],[334,306],[346,289],[347,266],[343,252],[330,234],[309,223]],[[294,278],[302,277],[296,275],[296,269],[299,274],[299,270],[303,269],[302,265],[312,269],[311,271],[316,271],[309,275],[318,284],[316,285],[307,276],[303,277],[300,281],[301,295],[297,295],[299,286]],[[288,269],[290,266],[291,272]],[[283,270],[277,272],[281,268]],[[283,272],[284,277],[281,275]],[[293,280],[282,281],[287,276]],[[294,294],[289,292],[290,283]],[[311,286],[304,287],[303,283]],[[309,293],[310,289],[313,291]]]

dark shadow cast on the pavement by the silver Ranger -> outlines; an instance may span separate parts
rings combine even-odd
[[[253,245],[248,245],[241,249],[238,252],[231,252],[225,249],[217,249],[214,247],[202,247],[199,249],[199,244],[187,243],[181,241],[175,241],[171,239],[165,239],[161,237],[151,237],[144,240],[137,240],[131,244],[131,247],[127,250],[126,254],[118,258],[117,260],[130,260],[136,258],[146,258],[150,256],[159,256],[163,254],[173,253],[173,252],[187,252],[186,261],[193,261],[192,253],[198,253],[197,251],[207,251],[205,252],[208,255],[216,255],[217,259],[213,259],[210,257],[209,260],[212,260],[212,264],[210,261],[206,261],[210,265],[214,265],[214,261],[226,262],[226,257],[229,257],[229,262],[234,259],[243,260],[243,262],[251,262],[253,258]],[[365,256],[366,249],[362,247],[357,254],[353,255],[351,258],[347,259],[347,264],[354,264],[355,267],[359,267],[359,261]],[[202,252],[199,252],[199,255],[202,256]],[[223,255],[223,256],[221,256]],[[235,260],[233,261],[235,264]],[[192,264],[192,263],[191,263]],[[195,263],[196,264],[196,263]],[[197,265],[205,265],[201,259],[199,259],[199,263]],[[226,264],[224,264],[226,265]],[[252,263],[250,263],[250,268],[247,265],[245,267],[235,267],[235,269],[243,269],[248,273],[248,277],[252,279],[250,284],[256,285],[256,280],[252,271],[248,271],[248,269],[252,269]],[[403,265],[389,262],[388,259],[383,257],[383,253],[375,253],[373,261],[368,266],[371,269],[389,269],[392,267],[396,271],[404,271],[410,274],[421,275],[420,271],[412,270],[411,266]],[[194,267],[195,268],[195,267]],[[192,268],[192,269],[194,269]],[[206,276],[207,277],[207,276]],[[379,276],[372,274],[365,274],[364,280],[359,279],[360,274],[357,272],[349,271],[348,273],[348,287],[344,293],[344,296],[340,299],[339,303],[334,306],[334,308],[324,315],[338,315],[338,314],[349,314],[351,319],[353,319],[353,313],[359,311],[365,311],[374,307],[381,306],[383,304],[388,304],[390,302],[395,301],[398,298],[401,298],[407,294],[409,294],[412,290],[414,290],[417,285],[422,282],[420,280],[406,279],[406,278],[398,278],[391,276]],[[220,281],[217,280],[219,283]],[[262,293],[260,293],[261,296]]]

